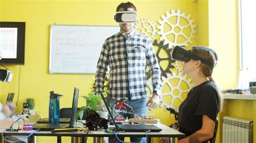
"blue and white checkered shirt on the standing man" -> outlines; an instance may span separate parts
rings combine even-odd
[[[96,91],[103,91],[107,66],[110,66],[110,79],[107,95],[114,99],[131,100],[147,97],[146,66],[149,66],[153,90],[160,93],[160,67],[149,38],[132,30],[107,38],[97,63]]]

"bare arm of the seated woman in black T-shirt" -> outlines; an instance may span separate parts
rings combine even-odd
[[[207,141],[213,137],[214,126],[215,121],[210,119],[207,115],[203,115],[203,125],[201,129],[184,139],[178,140],[178,143]]]

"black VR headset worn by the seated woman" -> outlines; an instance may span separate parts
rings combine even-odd
[[[210,51],[211,51],[211,49],[210,49]],[[213,52],[212,52],[212,54],[215,55]],[[180,62],[188,62],[191,59],[200,60],[205,65],[213,67],[213,68],[215,67],[215,65],[217,63],[216,60],[214,60],[214,62],[211,62],[211,61],[208,61],[204,58],[201,58],[200,56],[193,55],[190,50],[186,50],[184,48],[181,48],[180,46],[175,46],[172,49],[171,57],[172,57],[173,60],[180,61]]]

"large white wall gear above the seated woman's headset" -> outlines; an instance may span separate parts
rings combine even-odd
[[[160,26],[157,26],[157,28],[160,30],[158,32],[158,34],[161,35],[160,40],[164,40],[164,44],[169,44],[169,48],[171,48],[172,46],[188,46],[188,43],[192,44],[192,40],[194,39],[194,33],[197,33],[196,30],[194,30],[195,27],[197,27],[197,25],[194,25],[194,19],[190,19],[191,15],[185,15],[185,12],[180,13],[180,10],[178,9],[177,12],[175,12],[174,10],[171,10],[171,13],[166,11],[166,17],[165,16],[161,16],[161,18],[163,20],[158,20],[158,23],[160,24]],[[169,18],[171,17],[177,17],[177,23],[176,24],[172,24],[171,22],[169,22]],[[187,21],[188,24],[186,25],[180,25],[180,19],[183,18]],[[169,26],[171,26],[171,30],[164,32],[164,25],[167,24]],[[178,27],[179,31],[175,32],[174,28]],[[186,35],[185,33],[183,33],[184,28],[190,27],[190,34]],[[174,34],[174,41],[170,41],[169,39],[166,38],[166,35],[168,34]],[[182,35],[186,40],[184,42],[180,42],[177,43],[178,41],[178,35]]]

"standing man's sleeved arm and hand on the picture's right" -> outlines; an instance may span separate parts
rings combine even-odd
[[[153,93],[152,97],[149,99],[146,105],[149,106],[149,108],[157,108],[159,105],[159,96],[161,94],[161,71],[159,63],[157,61],[156,53],[154,52],[154,48],[150,40],[148,41],[147,46],[148,48],[146,51],[146,62],[147,66],[149,66],[150,68],[150,72],[152,75]]]

